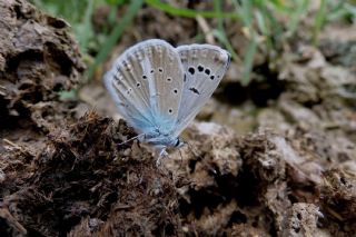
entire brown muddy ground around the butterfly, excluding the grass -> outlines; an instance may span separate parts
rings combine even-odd
[[[145,145],[118,146],[135,132],[108,117],[100,82],[80,91],[97,111],[59,100],[85,69],[65,21],[21,0],[0,1],[0,236],[356,235],[355,39],[299,43],[275,71],[256,59],[267,82],[248,88],[231,65],[198,116],[227,126],[194,122],[156,167]],[[135,23],[118,51],[134,36],[189,42],[195,29],[150,9]]]

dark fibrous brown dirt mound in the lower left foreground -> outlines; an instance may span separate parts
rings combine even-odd
[[[21,168],[1,164],[1,207],[16,221],[2,220],[13,227],[12,234],[26,229],[30,236],[78,236],[86,226],[87,234],[99,236],[176,234],[170,176],[157,169],[149,152],[117,149],[112,135],[125,132],[123,126],[89,112],[51,132],[42,150],[8,152],[18,164],[28,155]]]

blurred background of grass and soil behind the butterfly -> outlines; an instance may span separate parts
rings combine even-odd
[[[116,116],[102,75],[125,49],[150,38],[174,46],[208,42],[230,51],[233,62],[198,119],[239,134],[259,127],[354,129],[355,0],[31,2],[71,26],[87,65],[80,86],[61,92],[63,100]]]

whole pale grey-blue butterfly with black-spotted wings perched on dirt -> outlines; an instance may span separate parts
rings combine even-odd
[[[230,62],[211,45],[172,47],[160,39],[139,42],[118,57],[105,86],[139,140],[156,148],[181,147],[180,132],[218,87]]]

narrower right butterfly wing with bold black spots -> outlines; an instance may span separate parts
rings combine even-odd
[[[177,48],[185,76],[176,135],[196,117],[222,79],[230,55],[210,45],[190,45]]]

